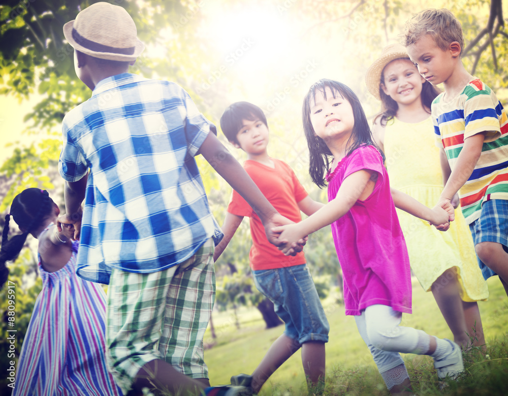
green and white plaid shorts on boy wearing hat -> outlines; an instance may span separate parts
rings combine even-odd
[[[144,364],[163,359],[190,378],[208,378],[203,337],[215,298],[214,243],[163,271],[113,269],[107,293],[106,359],[126,394]]]

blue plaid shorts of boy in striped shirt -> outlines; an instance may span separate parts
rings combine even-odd
[[[480,242],[501,243],[508,252],[508,201],[505,199],[491,199],[482,205],[482,213],[478,220],[469,224],[474,245]],[[497,275],[477,256],[478,265],[484,279]]]

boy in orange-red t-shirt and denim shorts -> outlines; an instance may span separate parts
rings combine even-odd
[[[220,128],[236,148],[247,153],[245,170],[280,214],[299,222],[302,220],[300,210],[310,216],[323,206],[307,195],[286,163],[268,156],[268,125],[258,106],[248,102],[233,103],[220,118]],[[222,227],[224,238],[217,245],[213,258],[216,260],[226,249],[244,216],[250,218],[249,259],[254,282],[273,302],[275,312],[285,323],[285,330],[252,375],[234,376],[231,382],[250,386],[258,393],[273,372],[301,347],[308,386],[319,391],[317,388],[325,380],[325,343],[330,327],[303,252],[287,257],[271,245],[256,212],[233,191]]]

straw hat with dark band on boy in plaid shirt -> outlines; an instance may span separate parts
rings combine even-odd
[[[129,13],[105,2],[80,11],[63,25],[63,35],[74,49],[102,59],[130,62],[145,48]]]

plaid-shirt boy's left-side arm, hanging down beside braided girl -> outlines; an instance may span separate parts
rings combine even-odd
[[[58,231],[61,232],[63,230],[67,236],[74,240],[79,239],[81,232],[81,215],[83,214],[81,203],[85,198],[87,179],[88,174],[77,181],[66,181],[63,187],[66,212],[64,215],[58,217],[56,226]],[[62,224],[67,224],[68,226],[62,227]],[[74,233],[70,235],[73,228]]]

